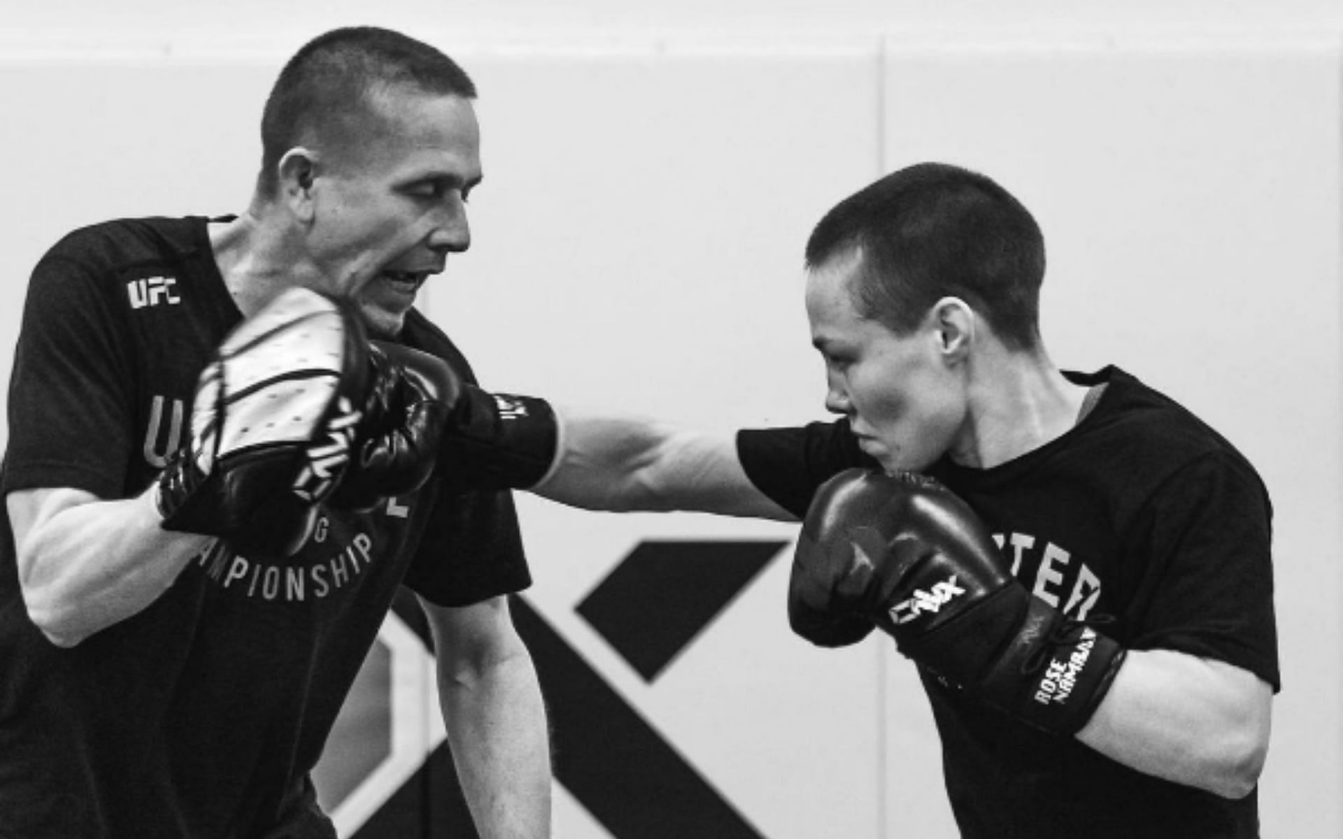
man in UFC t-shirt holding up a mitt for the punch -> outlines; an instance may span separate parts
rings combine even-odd
[[[317,365],[321,353],[266,357],[277,333],[324,346],[325,333],[277,314],[294,289],[318,293],[313,324],[346,325],[359,361],[333,373],[376,380],[324,431],[363,417],[364,434],[373,408],[424,399],[410,349],[470,380],[412,303],[470,243],[474,97],[424,43],[326,32],[275,82],[243,215],[93,226],[34,270],[3,477],[0,835],[334,836],[309,772],[402,584],[436,642],[443,718],[481,835],[549,835],[545,713],[506,600],[530,583],[509,494],[459,494],[438,470],[379,497],[361,491],[377,463],[361,450],[336,493],[326,481],[302,509],[313,521],[293,529],[290,553],[239,514],[290,498],[240,498],[287,460],[201,454],[226,431],[274,436],[265,428],[299,419],[228,389],[257,371],[283,383]],[[334,317],[355,305],[363,328]],[[192,404],[197,385],[208,404]],[[242,404],[273,422],[236,427]],[[399,446],[423,442],[403,431]],[[226,466],[240,478],[220,481]],[[216,528],[223,513],[236,514],[232,530]]]

